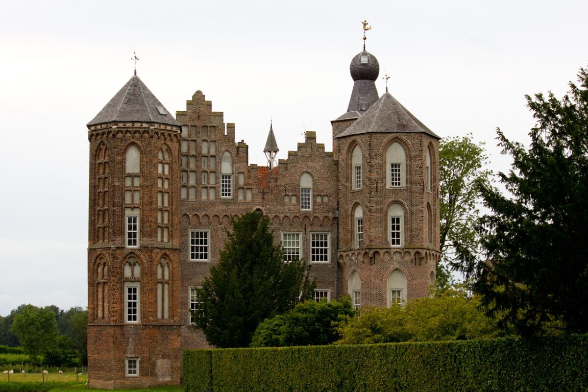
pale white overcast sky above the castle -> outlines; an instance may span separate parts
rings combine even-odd
[[[524,94],[588,63],[586,1],[11,1],[0,14],[0,315],[21,303],[86,306],[85,124],[138,75],[175,113],[196,90],[262,150],[273,118],[286,158],[347,109],[349,62],[367,49],[389,91],[442,137],[472,132],[491,169],[534,121]],[[380,95],[382,79],[376,83]]]

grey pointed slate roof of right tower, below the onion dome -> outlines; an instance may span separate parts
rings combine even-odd
[[[385,93],[337,138],[368,132],[424,132],[440,139],[390,93]]]

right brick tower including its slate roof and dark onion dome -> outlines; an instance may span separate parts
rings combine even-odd
[[[439,260],[439,136],[387,92],[364,50],[350,64],[346,113],[332,121],[339,160],[339,293],[355,306],[427,296]]]

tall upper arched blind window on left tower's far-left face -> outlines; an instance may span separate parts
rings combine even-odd
[[[108,241],[108,149],[102,143],[95,156],[95,242]]]

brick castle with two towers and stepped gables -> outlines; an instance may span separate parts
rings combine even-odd
[[[378,95],[365,45],[350,73],[332,152],[306,132],[278,165],[271,126],[268,166],[250,165],[201,91],[174,119],[136,72],[88,123],[89,387],[180,383],[182,350],[208,347],[191,323],[195,288],[248,211],[269,217],[285,260],[312,266],[316,300],[427,296],[440,259],[439,136]]]

